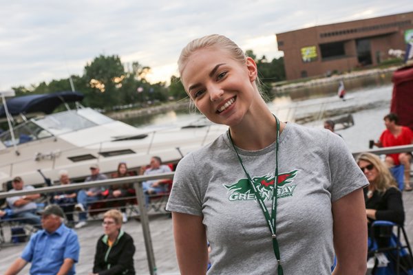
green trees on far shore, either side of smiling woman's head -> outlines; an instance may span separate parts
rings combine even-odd
[[[257,59],[252,50],[246,54],[254,58],[260,72],[260,78],[268,92],[271,83],[285,79],[284,59],[273,59],[270,63],[265,56]],[[85,95],[82,104],[88,107],[104,109],[125,109],[130,107],[146,107],[148,104],[158,104],[167,100],[182,100],[187,98],[180,78],[171,76],[169,87],[165,83],[151,84],[147,74],[151,68],[140,63],[129,63],[125,68],[119,56],[100,55],[84,67],[82,76],[71,76],[74,89]],[[17,96],[27,94],[46,94],[56,91],[70,91],[72,87],[68,78],[42,82],[30,87],[13,87]],[[141,92],[139,92],[141,91]]]

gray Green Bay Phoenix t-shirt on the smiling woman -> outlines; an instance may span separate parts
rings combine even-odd
[[[271,212],[275,142],[238,152]],[[173,181],[167,210],[203,217],[209,274],[276,274],[271,233],[226,133],[186,155]],[[331,274],[332,201],[366,185],[341,137],[287,124],[279,139],[276,225],[284,274]]]

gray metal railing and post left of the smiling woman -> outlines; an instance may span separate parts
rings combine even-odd
[[[152,179],[172,179],[175,173],[163,173],[158,175],[139,175],[133,177],[122,177],[116,179],[105,179],[100,181],[88,181],[78,184],[65,184],[60,186],[49,186],[34,188],[32,190],[21,190],[21,191],[9,191],[0,192],[0,199],[6,197],[32,195],[32,194],[47,194],[51,192],[65,191],[65,190],[79,190],[98,186],[110,186],[112,184],[134,184],[136,191],[136,199],[138,200],[138,208],[140,212],[140,223],[142,225],[143,237],[145,239],[145,248],[147,251],[147,261],[149,272],[151,275],[156,274],[156,262],[155,256],[153,254],[153,245],[151,239],[151,232],[149,230],[149,217],[147,213],[147,208],[145,207],[145,195],[142,189],[142,181],[152,180]],[[0,221],[1,222],[1,221]]]

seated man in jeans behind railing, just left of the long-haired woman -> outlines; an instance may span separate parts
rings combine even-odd
[[[100,174],[99,166],[98,164],[92,164],[90,166],[90,173],[91,175],[85,179],[85,182],[87,181],[98,181],[98,180],[103,180],[107,179],[107,177],[103,174]],[[80,190],[77,195],[77,201],[78,203],[74,208],[79,212],[79,222],[74,225],[74,228],[83,228],[86,223],[87,219],[87,205],[90,203],[93,203],[94,201],[98,201],[99,199],[102,198],[102,188],[100,187],[92,187],[89,188],[88,190]]]

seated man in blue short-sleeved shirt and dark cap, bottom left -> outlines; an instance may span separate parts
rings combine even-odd
[[[39,230],[30,238],[21,256],[10,265],[6,275],[18,274],[27,263],[32,263],[30,274],[76,274],[74,264],[79,258],[78,236],[67,228],[65,214],[56,204],[43,210]]]

